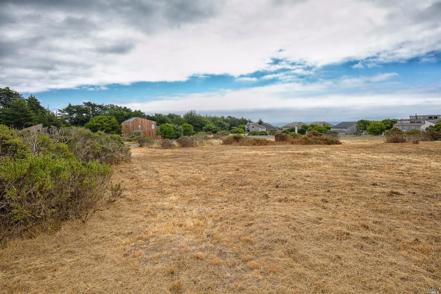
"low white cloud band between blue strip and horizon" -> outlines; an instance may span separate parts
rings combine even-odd
[[[228,89],[216,92],[191,93],[157,97],[154,101],[132,101],[124,106],[146,112],[186,112],[197,109],[202,113],[229,114],[232,112],[275,113],[280,109],[304,112],[311,120],[331,118],[333,110],[340,119],[354,118],[355,113],[372,114],[374,109],[381,113],[394,115],[394,109],[423,109],[440,111],[440,86],[407,87],[403,89],[382,88],[381,83],[396,77],[396,73],[373,76],[345,77],[333,80],[320,80],[314,83],[288,82],[243,89]],[[363,112],[364,109],[364,112]],[[385,109],[388,109],[387,111]],[[342,110],[346,110],[345,114]],[[378,112],[380,113],[380,112]],[[242,114],[244,115],[244,114]],[[349,117],[351,116],[351,117]],[[270,117],[268,115],[268,117]],[[279,117],[274,115],[271,117]],[[336,120],[336,118],[334,117]]]

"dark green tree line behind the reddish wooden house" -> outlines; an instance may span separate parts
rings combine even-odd
[[[82,104],[69,103],[66,107],[51,111],[34,95],[24,97],[9,87],[0,88],[0,124],[11,128],[22,129],[42,123],[43,127],[86,127],[92,131],[102,130],[106,133],[120,134],[120,125],[131,117],[141,117],[156,121],[157,127],[169,124],[184,129],[191,125],[192,131],[217,133],[219,130],[232,130],[250,122],[250,119],[234,116],[200,115],[190,110],[184,115],[176,113],[146,114],[141,110],[114,104],[97,104],[90,101]],[[169,126],[167,126],[169,128]]]

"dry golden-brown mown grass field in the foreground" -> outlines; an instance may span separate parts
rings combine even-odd
[[[441,142],[132,148],[125,196],[0,249],[1,293],[424,293]]]

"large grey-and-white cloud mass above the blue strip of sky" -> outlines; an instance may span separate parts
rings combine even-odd
[[[423,60],[441,50],[440,7],[425,0],[2,1],[0,86],[37,92],[281,69],[292,72],[277,79],[295,81],[346,61],[364,60],[361,68]]]

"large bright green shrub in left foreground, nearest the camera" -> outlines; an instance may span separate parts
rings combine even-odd
[[[8,158],[0,165],[0,237],[34,225],[88,220],[106,204],[112,170],[107,164],[50,154]]]

